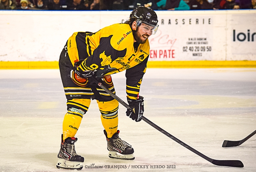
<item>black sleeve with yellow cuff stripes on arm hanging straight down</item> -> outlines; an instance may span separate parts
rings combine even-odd
[[[140,92],[142,77],[146,72],[148,57],[140,64],[126,69],[126,94],[128,98],[137,99]]]

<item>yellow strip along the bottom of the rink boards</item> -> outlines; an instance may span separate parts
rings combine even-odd
[[[148,61],[148,68],[256,67],[256,61]],[[0,69],[59,69],[58,61],[0,61]]]

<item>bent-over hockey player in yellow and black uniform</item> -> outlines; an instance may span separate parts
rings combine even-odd
[[[156,33],[157,15],[151,8],[139,6],[125,23],[104,27],[96,33],[75,32],[60,54],[60,75],[67,98],[57,168],[83,168],[84,158],[76,154],[75,134],[87,112],[91,99],[96,99],[107,139],[110,158],[134,160],[133,148],[121,140],[118,126],[118,102],[97,84],[94,77],[115,93],[110,74],[126,70],[127,101],[133,111],[126,115],[141,121],[143,97],[139,96],[142,77],[149,56],[148,37]]]

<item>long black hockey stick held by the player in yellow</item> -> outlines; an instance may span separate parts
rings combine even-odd
[[[112,93],[110,90],[108,90],[104,85],[102,85],[102,83],[98,82],[97,80],[95,80],[94,78],[90,77],[90,79],[93,80],[93,82],[97,83],[103,90],[105,90],[108,94],[110,94],[110,96],[112,96],[113,98],[115,98],[119,103],[121,103],[124,107],[126,107],[127,109],[131,110],[131,107],[129,105],[127,105],[122,99],[120,99],[119,97],[117,97],[114,93]],[[151,125],[152,127],[154,127],[155,129],[157,129],[158,131],[160,131],[161,133],[163,133],[164,135],[170,137],[172,140],[174,140],[175,142],[179,143],[180,145],[184,146],[185,148],[189,149],[190,151],[196,153],[197,155],[201,156],[202,158],[204,158],[205,160],[208,160],[209,162],[211,162],[214,165],[218,165],[218,166],[228,166],[228,167],[244,167],[244,164],[240,161],[240,160],[214,160],[212,158],[209,158],[207,156],[205,156],[204,154],[198,152],[197,150],[195,150],[194,148],[190,147],[189,145],[185,144],[184,142],[180,141],[178,138],[172,136],[171,134],[169,134],[167,131],[164,131],[163,129],[161,129],[160,127],[158,127],[156,124],[154,124],[153,122],[149,121],[145,116],[142,116],[142,120],[147,122],[149,125]]]

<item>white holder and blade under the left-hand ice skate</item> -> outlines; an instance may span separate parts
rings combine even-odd
[[[68,160],[59,158],[56,167],[59,169],[81,170],[83,168],[83,164],[82,162],[68,161]]]

